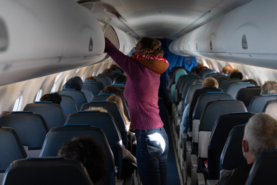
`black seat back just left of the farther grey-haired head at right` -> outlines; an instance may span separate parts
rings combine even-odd
[[[236,95],[236,99],[242,101],[245,107],[248,107],[252,98],[259,95],[261,95],[260,86],[250,86],[250,87],[248,86],[238,91]]]

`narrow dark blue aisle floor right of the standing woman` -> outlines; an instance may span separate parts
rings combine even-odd
[[[178,175],[178,169],[176,165],[176,159],[173,149],[173,143],[171,138],[171,132],[169,127],[169,120],[168,120],[168,112],[166,110],[166,106],[163,101],[159,101],[158,103],[159,110],[160,110],[160,117],[162,122],[164,123],[164,128],[166,130],[168,141],[169,141],[169,151],[167,156],[167,185],[180,185],[180,179]]]

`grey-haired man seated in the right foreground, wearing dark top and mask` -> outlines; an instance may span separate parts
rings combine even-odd
[[[242,152],[247,165],[225,174],[217,181],[217,185],[244,185],[259,155],[263,151],[275,150],[277,147],[276,133],[277,120],[264,113],[252,116],[245,126],[242,140]]]

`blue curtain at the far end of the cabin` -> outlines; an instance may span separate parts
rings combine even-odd
[[[174,67],[185,67],[186,70],[191,70],[193,67],[197,66],[197,61],[195,57],[184,57],[177,54],[173,54],[168,49],[170,42],[169,39],[159,39],[162,42],[162,50],[164,52],[164,58],[169,62],[168,69],[166,72],[161,74],[160,77],[160,87],[159,87],[159,97],[166,97],[166,86],[168,74]]]

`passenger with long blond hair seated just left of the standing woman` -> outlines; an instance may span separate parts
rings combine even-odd
[[[123,118],[126,122],[126,128],[127,128],[127,136],[128,136],[128,150],[131,151],[132,155],[136,156],[136,147],[137,147],[137,142],[135,138],[135,134],[129,131],[130,128],[130,121],[127,119],[126,115],[124,114],[124,109],[123,109],[123,103],[122,99],[116,95],[111,95],[109,98],[107,98],[107,101],[116,103],[123,115]]]

